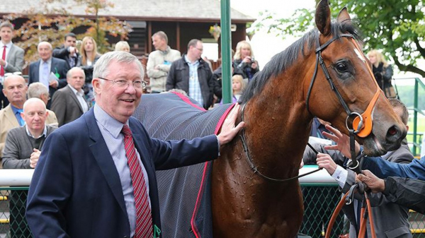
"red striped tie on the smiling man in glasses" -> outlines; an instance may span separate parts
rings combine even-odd
[[[125,155],[127,155],[135,194],[136,231],[134,238],[152,238],[154,234],[152,230],[152,214],[149,207],[149,201],[147,201],[145,176],[143,176],[142,167],[137,158],[130,127],[124,125],[121,132],[124,134]]]

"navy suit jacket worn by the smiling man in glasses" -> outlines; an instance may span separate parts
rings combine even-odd
[[[213,160],[217,138],[159,141],[129,119],[149,177],[153,224],[161,228],[155,169]],[[200,156],[202,155],[202,156]],[[31,180],[26,218],[35,237],[130,237],[118,171],[93,109],[47,137]]]

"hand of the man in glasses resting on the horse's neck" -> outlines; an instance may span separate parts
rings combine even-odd
[[[236,136],[237,133],[245,126],[244,121],[239,122],[239,124],[235,126],[239,109],[240,105],[237,103],[234,105],[232,111],[230,111],[225,122],[223,122],[220,134],[217,136],[220,145],[225,145],[226,143],[229,143],[229,141],[232,141],[234,136]]]

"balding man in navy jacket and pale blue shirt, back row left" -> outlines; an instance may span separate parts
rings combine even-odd
[[[63,59],[52,57],[52,44],[40,42],[37,47],[40,60],[30,64],[28,84],[40,82],[49,88],[50,98],[56,90],[67,85],[67,72],[69,65]],[[47,102],[47,109],[50,109],[51,100]]]

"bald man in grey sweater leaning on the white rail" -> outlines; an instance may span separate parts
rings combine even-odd
[[[30,98],[23,104],[21,117],[25,125],[11,129],[4,143],[4,169],[34,169],[40,157],[45,138],[57,127],[46,125],[49,112],[39,98]],[[26,223],[25,208],[28,191],[11,191],[11,237],[32,237]]]

